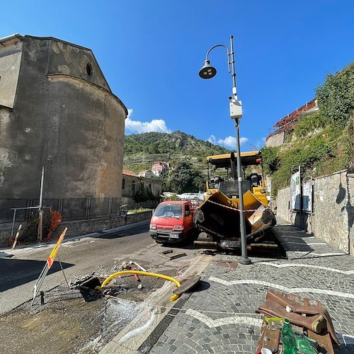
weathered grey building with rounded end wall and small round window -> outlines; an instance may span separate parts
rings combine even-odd
[[[38,205],[42,167],[44,205],[76,219],[118,213],[126,117],[92,50],[1,38],[0,223]]]

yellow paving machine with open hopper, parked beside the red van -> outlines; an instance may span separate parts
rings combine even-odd
[[[265,232],[276,220],[268,207],[261,152],[242,152],[240,157],[247,248],[276,248],[272,243],[262,244]],[[195,248],[238,251],[241,249],[240,195],[234,152],[207,156],[207,171],[205,200],[195,210],[193,219],[199,230]]]

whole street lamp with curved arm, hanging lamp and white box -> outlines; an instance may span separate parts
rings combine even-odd
[[[240,234],[241,234],[241,258],[239,263],[251,264],[251,260],[247,257],[246,247],[246,232],[244,219],[244,193],[242,191],[242,173],[241,173],[241,155],[240,155],[240,139],[239,139],[239,122],[242,118],[241,101],[237,99],[236,93],[236,73],[234,61],[234,36],[230,35],[230,49],[226,45],[215,45],[208,50],[205,57],[204,66],[199,71],[199,76],[202,79],[211,79],[217,74],[217,69],[210,65],[209,53],[216,47],[224,47],[227,50],[227,64],[229,66],[229,73],[232,74],[232,97],[230,100],[230,117],[234,120],[236,129],[236,162],[237,162],[237,181],[239,185],[239,212],[240,212]]]

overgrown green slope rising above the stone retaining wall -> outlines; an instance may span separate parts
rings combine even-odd
[[[328,74],[316,89],[316,99],[319,111],[299,115],[296,124],[285,122],[285,144],[262,149],[274,196],[290,185],[299,166],[304,178],[354,169],[354,62]]]

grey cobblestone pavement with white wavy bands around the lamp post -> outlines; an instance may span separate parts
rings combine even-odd
[[[149,352],[255,353],[262,318],[255,310],[275,290],[321,300],[341,342],[336,353],[354,353],[354,258],[281,219],[274,230],[287,259],[251,258],[231,269],[210,262],[200,291],[182,295],[181,310]]]

